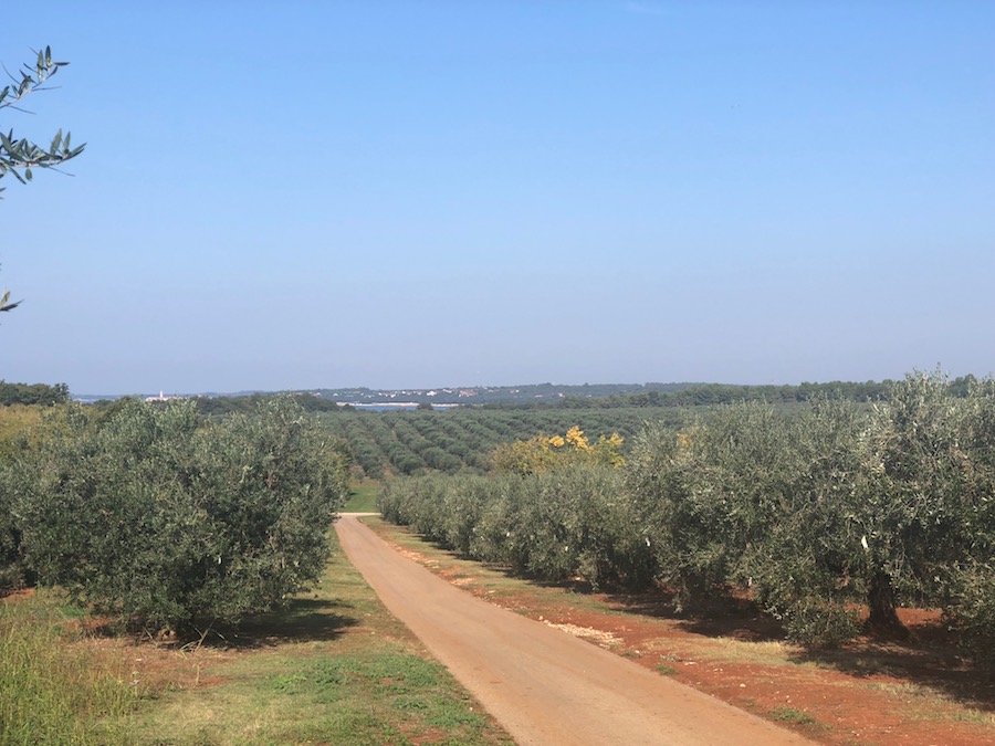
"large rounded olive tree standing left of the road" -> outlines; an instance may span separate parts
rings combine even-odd
[[[94,429],[71,412],[22,483],[42,582],[146,629],[205,630],[318,577],[347,495],[339,443],[286,399],[209,422],[132,401]]]

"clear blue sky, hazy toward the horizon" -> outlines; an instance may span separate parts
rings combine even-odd
[[[995,370],[995,3],[48,2],[0,378],[74,393]]]

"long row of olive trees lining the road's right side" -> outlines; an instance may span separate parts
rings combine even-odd
[[[746,592],[806,644],[868,623],[905,633],[901,603],[942,608],[995,663],[995,383],[953,396],[914,374],[873,407],[814,401],[649,425],[621,467],[390,481],[385,517],[544,579],[660,585],[678,607]]]

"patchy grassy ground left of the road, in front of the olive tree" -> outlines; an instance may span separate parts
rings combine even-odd
[[[320,587],[199,647],[84,634],[57,598],[7,599],[0,743],[510,744],[333,540]]]

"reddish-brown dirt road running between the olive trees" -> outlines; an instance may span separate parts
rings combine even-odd
[[[355,515],[336,524],[384,605],[519,744],[805,744],[565,632],[474,598],[402,557]]]

